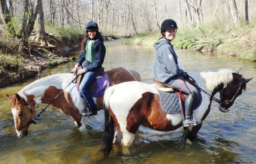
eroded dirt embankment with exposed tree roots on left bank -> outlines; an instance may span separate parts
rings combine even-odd
[[[24,59],[21,68],[0,73],[0,87],[20,83],[28,78],[35,77],[46,68],[67,63],[70,59],[65,57],[67,51],[80,45],[82,37],[77,41],[69,41],[63,37],[47,34],[47,46],[38,46],[36,42],[22,51]],[[40,45],[40,44],[39,44]]]

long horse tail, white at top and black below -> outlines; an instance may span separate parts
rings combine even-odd
[[[105,114],[105,123],[104,123],[104,132],[102,135],[102,145],[101,152],[104,153],[106,158],[113,147],[113,140],[115,134],[114,120],[109,112],[109,99],[114,92],[114,86],[109,87],[104,94],[104,114]]]

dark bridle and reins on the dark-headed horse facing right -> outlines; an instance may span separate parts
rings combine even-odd
[[[191,78],[193,81],[195,81],[191,76],[189,76],[189,78]],[[244,78],[241,77],[240,84],[237,85],[237,86],[239,86],[239,88],[238,88],[238,90],[236,91],[236,94],[232,97],[231,100],[226,100],[226,101],[224,101],[224,102],[222,101],[223,94],[221,94],[221,98],[220,98],[220,100],[219,100],[219,99],[215,98],[214,96],[212,96],[211,94],[209,94],[209,93],[207,93],[206,91],[204,91],[202,88],[200,88],[200,87],[196,84],[196,81],[195,81],[195,85],[196,85],[199,89],[201,89],[202,91],[204,91],[204,93],[206,93],[206,94],[208,94],[209,96],[211,96],[211,97],[212,97],[212,100],[218,102],[220,106],[225,106],[225,107],[226,107],[229,103],[231,103],[231,102],[234,101],[236,95],[238,94],[238,91],[240,91],[241,86],[242,86],[242,84],[241,84],[241,83],[242,83],[242,79],[244,79]],[[188,79],[188,80],[189,80],[190,82],[192,82],[190,79]],[[193,82],[192,82],[192,83],[193,83]],[[227,86],[228,86],[228,85],[227,85]],[[237,86],[232,86],[232,87],[229,87],[229,88],[224,88],[224,87],[223,87],[220,92],[223,93],[223,90],[224,90],[224,89],[235,88],[235,87],[237,87]]]

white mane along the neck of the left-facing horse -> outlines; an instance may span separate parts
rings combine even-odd
[[[42,82],[45,82],[45,81],[50,81],[52,79],[56,79],[60,76],[65,76],[66,79],[68,78],[72,78],[72,74],[71,73],[58,73],[58,74],[54,74],[54,75],[50,75],[50,76],[46,76],[44,78],[40,78],[30,84],[28,84],[27,86],[25,86],[24,88],[22,88],[18,94],[20,95],[21,98],[23,98],[25,101],[28,101],[28,98],[27,96],[25,95],[25,91],[27,91],[29,88],[34,88],[34,87],[37,87],[37,86],[41,86],[42,85]]]

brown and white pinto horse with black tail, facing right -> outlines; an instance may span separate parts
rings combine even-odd
[[[235,99],[246,89],[250,79],[232,70],[201,72],[193,76],[197,85],[204,90],[201,105],[193,111],[195,120],[204,120],[210,112],[213,96],[220,92],[219,109],[228,112]],[[209,93],[209,95],[207,94]],[[158,131],[172,131],[182,125],[182,116],[167,114],[162,110],[157,88],[142,82],[125,82],[109,87],[104,94],[105,124],[101,152],[106,155],[113,143],[130,146],[140,125]],[[202,124],[188,127],[188,138],[196,137]]]

